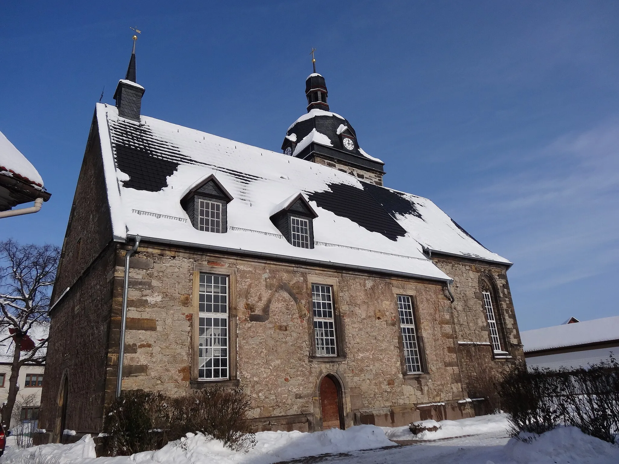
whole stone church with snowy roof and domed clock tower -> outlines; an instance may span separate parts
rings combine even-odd
[[[430,200],[383,187],[321,75],[283,154],[143,116],[135,75],[132,55],[116,107],[95,108],[40,441],[102,429],[138,238],[123,389],[240,385],[262,430],[400,426],[472,415],[472,375],[523,359],[511,263]]]

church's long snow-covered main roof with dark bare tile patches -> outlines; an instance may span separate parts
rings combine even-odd
[[[140,235],[433,280],[450,278],[423,254],[422,244],[430,242],[433,249],[508,263],[430,200],[170,122],[129,121],[114,106],[98,104],[97,122],[115,239]],[[210,174],[234,198],[227,233],[196,230],[181,207],[189,188]],[[269,219],[299,193],[318,214],[313,249],[293,247]]]

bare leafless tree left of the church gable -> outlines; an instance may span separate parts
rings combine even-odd
[[[20,367],[45,363],[48,309],[59,257],[55,245],[0,242],[0,344],[11,358],[9,397],[2,406],[5,427],[11,423]]]

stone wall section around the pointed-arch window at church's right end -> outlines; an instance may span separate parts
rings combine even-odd
[[[455,301],[453,320],[456,327],[459,363],[462,372],[462,384],[470,390],[470,397],[478,395],[476,378],[500,375],[514,361],[523,361],[522,344],[516,322],[514,304],[509,291],[506,265],[491,264],[479,260],[460,259],[433,254],[433,262],[449,277],[454,279],[452,293]],[[480,277],[485,276],[493,283],[500,307],[495,309],[499,331],[502,333],[511,358],[495,358],[490,346],[488,322],[483,306]],[[462,343],[464,342],[464,343]],[[474,342],[474,343],[471,343]],[[481,345],[480,343],[484,343]],[[503,342],[501,342],[503,345]]]

